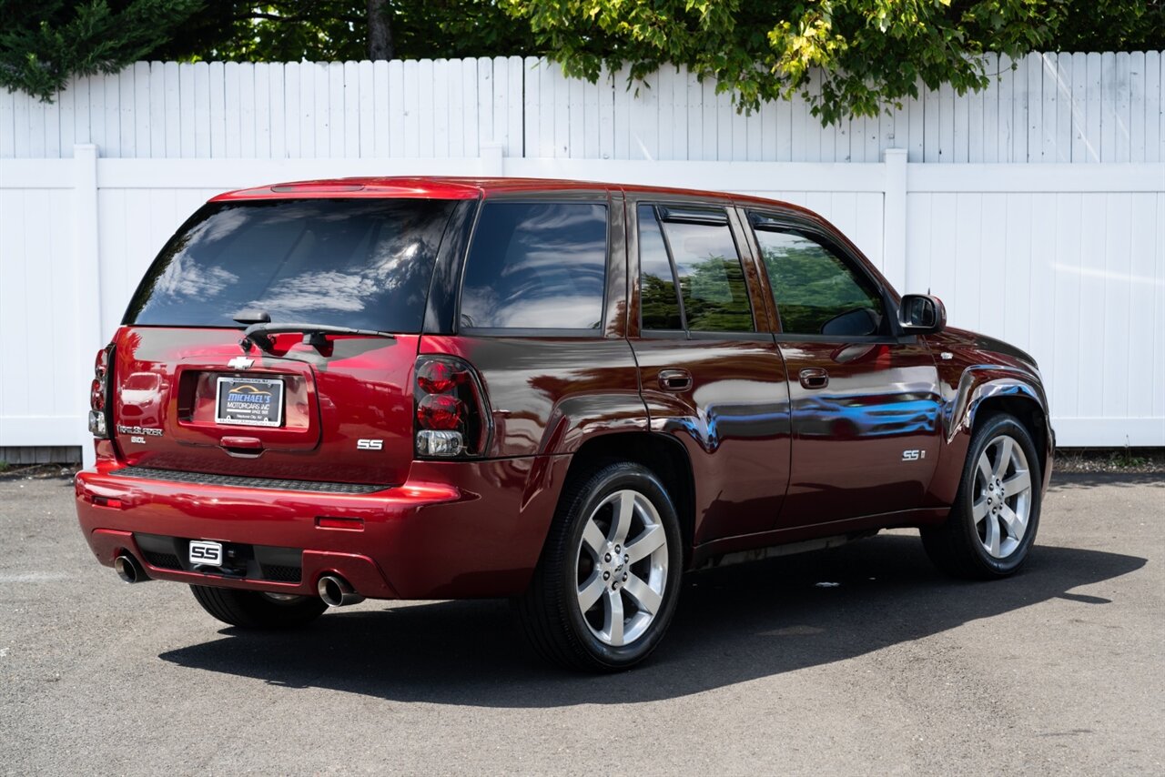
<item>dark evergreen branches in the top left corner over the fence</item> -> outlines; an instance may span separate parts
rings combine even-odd
[[[51,99],[72,75],[116,72],[203,0],[0,0],[0,86]]]

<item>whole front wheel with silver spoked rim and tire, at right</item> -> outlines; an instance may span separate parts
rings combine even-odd
[[[972,438],[949,518],[922,531],[926,553],[958,577],[1014,573],[1036,541],[1040,482],[1036,445],[1023,424],[1009,415],[988,418]]]

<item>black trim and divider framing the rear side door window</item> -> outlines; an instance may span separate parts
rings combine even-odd
[[[733,228],[732,210],[733,204],[730,202],[723,203],[709,203],[706,200],[690,200],[690,202],[670,202],[670,200],[657,200],[650,197],[642,199],[629,200],[629,204],[635,206],[635,281],[637,289],[635,290],[637,308],[638,308],[638,337],[657,337],[651,333],[664,333],[664,338],[675,337],[673,332],[677,330],[645,330],[643,329],[643,266],[641,262],[642,256],[642,243],[640,236],[640,219],[638,209],[641,205],[648,205],[651,207],[656,217],[656,224],[659,225],[659,234],[663,236],[664,248],[668,252],[668,263],[671,266],[671,277],[672,283],[676,287],[676,301],[679,303],[679,320],[684,326],[683,333],[684,339],[740,339],[750,335],[762,334],[764,339],[768,339],[769,334],[767,332],[761,332],[757,325],[756,305],[753,304],[753,292],[750,290],[750,281],[748,276],[748,268],[744,266],[746,254],[741,250],[741,241],[736,231]],[[668,209],[675,209],[680,218],[665,218],[664,214]],[[719,219],[699,219],[697,217],[698,211],[720,211],[725,216],[725,220]],[[676,254],[671,248],[671,238],[668,236],[668,229],[664,228],[664,224],[672,221],[676,224],[702,224],[707,226],[726,227],[728,229],[728,236],[732,239],[733,247],[736,249],[736,261],[740,262],[741,274],[744,276],[744,298],[748,302],[748,315],[753,319],[753,329],[744,331],[734,330],[693,330],[687,322],[687,305],[684,304],[684,294],[679,284],[679,273],[676,269]],[[693,337],[697,335],[697,337]]]

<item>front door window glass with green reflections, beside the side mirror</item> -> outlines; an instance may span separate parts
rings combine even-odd
[[[793,231],[757,229],[756,241],[783,332],[836,335],[877,332],[882,298],[836,252]]]

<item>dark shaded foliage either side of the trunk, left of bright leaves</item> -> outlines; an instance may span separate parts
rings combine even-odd
[[[493,0],[384,0],[391,56],[534,51]],[[70,76],[137,59],[366,59],[367,0],[0,0],[0,86],[51,99]]]

